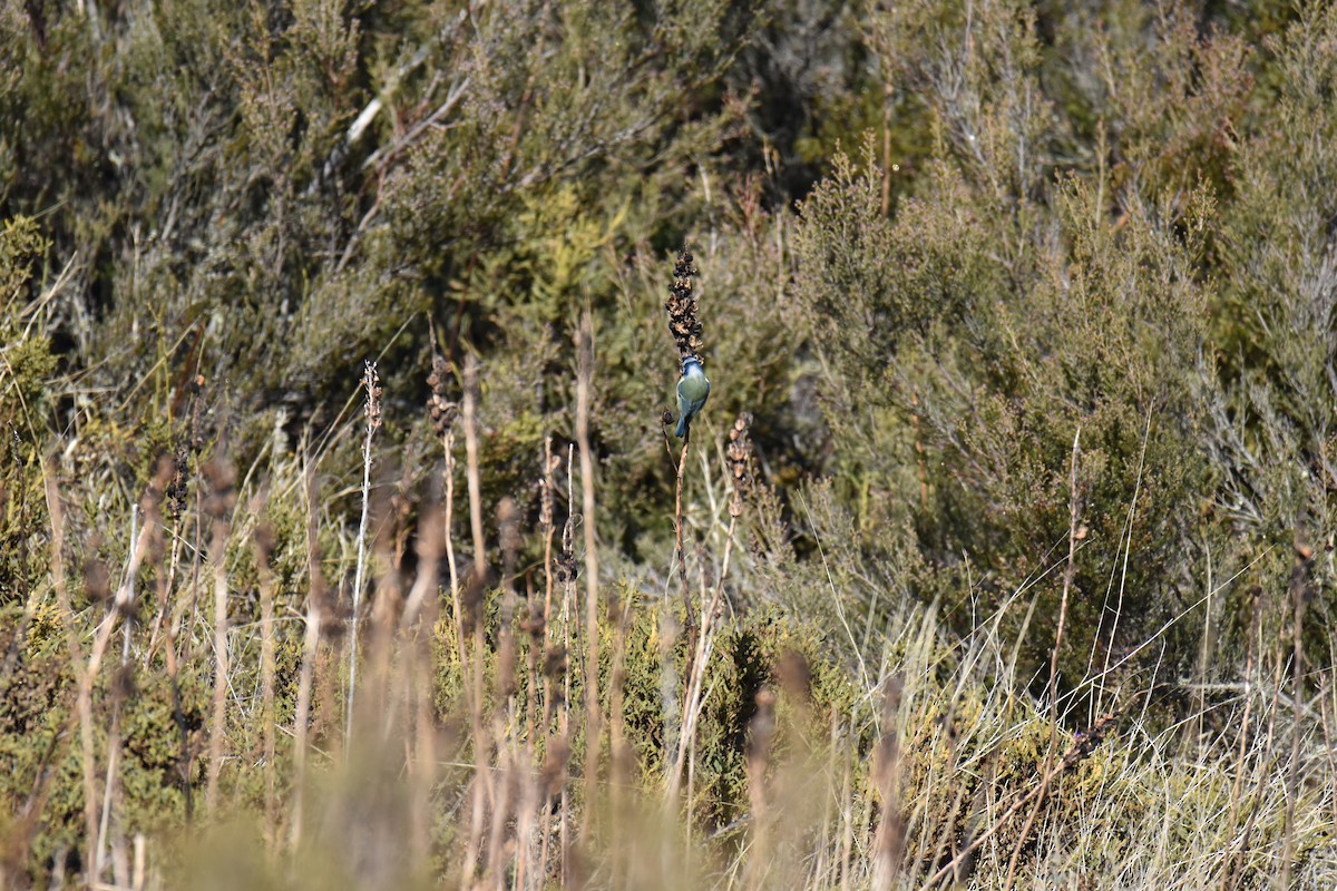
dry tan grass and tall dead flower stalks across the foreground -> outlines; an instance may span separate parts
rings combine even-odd
[[[52,572],[15,645],[33,647],[31,629],[53,610],[71,681],[55,699],[63,724],[32,793],[3,824],[5,884],[1332,887],[1337,684],[1330,667],[1306,661],[1298,633],[1312,552],[1297,548],[1288,592],[1296,631],[1267,640],[1255,610],[1242,675],[1186,683],[1195,708],[1169,725],[1154,701],[1161,684],[1132,673],[1131,656],[1060,687],[1063,616],[1046,692],[1028,696],[1016,641],[999,632],[1004,612],[1025,609],[1027,588],[965,636],[944,631],[932,608],[902,605],[856,647],[853,671],[838,655],[848,651],[802,617],[749,625],[738,593],[765,554],[734,558],[758,504],[746,417],[725,442],[702,435],[668,453],[678,542],[663,589],[646,594],[600,569],[595,349],[587,317],[576,439],[563,456],[550,437],[533,456],[532,528],[513,497],[484,501],[485,391],[472,358],[459,402],[447,397],[452,369],[433,362],[441,454],[435,496],[416,512],[373,492],[386,458],[374,449],[382,407],[368,366],[352,542],[317,485],[320,453],[275,460],[263,492],[214,457],[205,485],[195,481],[199,516],[160,509],[180,468],[168,462],[138,513],[111,517],[132,530],[124,581],[78,606],[64,569],[75,482],[45,465]],[[336,439],[354,435],[350,422]],[[1064,605],[1084,537],[1079,460],[1074,441],[1070,546],[1052,568],[1064,566]],[[301,505],[287,542],[295,564],[267,518],[285,497]],[[528,569],[527,541],[541,554]],[[344,553],[352,544],[353,556],[332,560],[332,542]],[[198,572],[179,570],[182,553]],[[325,581],[332,564],[345,580],[356,570],[352,589]],[[138,594],[144,577],[155,602]],[[197,616],[201,578],[214,609]],[[853,602],[828,582],[837,604]],[[814,635],[806,656],[785,643],[804,633]],[[747,635],[774,636],[763,649],[779,655],[753,687],[725,691],[738,683],[729,648]],[[195,687],[183,693],[185,679]],[[185,808],[167,826],[146,818],[130,783],[142,777],[124,773],[146,732],[128,727],[143,716],[130,708],[135,689],[171,691],[159,729],[179,739],[167,757]],[[1106,712],[1083,721],[1095,689]],[[727,692],[738,711],[719,711]],[[191,727],[185,715],[202,715],[206,697],[209,719]],[[51,765],[62,764],[82,792],[78,854],[41,859],[62,781]]]

